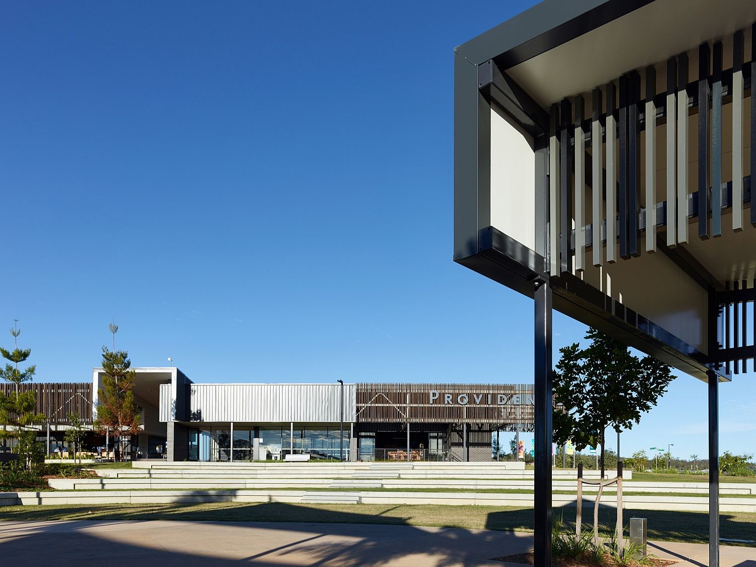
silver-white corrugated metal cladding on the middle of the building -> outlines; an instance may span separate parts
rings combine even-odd
[[[192,384],[189,420],[338,422],[341,388],[338,384]],[[355,386],[343,388],[344,421],[354,422]]]

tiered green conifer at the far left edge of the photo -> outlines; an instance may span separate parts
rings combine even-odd
[[[27,366],[23,371],[18,368],[18,365],[26,362],[32,353],[30,348],[18,347],[17,338],[20,334],[21,329],[14,325],[11,329],[14,339],[13,350],[0,347],[0,354],[9,361],[4,369],[0,369],[0,378],[16,385],[11,395],[6,396],[0,392],[0,423],[3,425],[0,437],[3,438],[3,444],[8,438],[16,438],[16,453],[23,456],[26,469],[31,469],[42,460],[43,453],[42,444],[36,440],[37,430],[33,428],[33,424],[44,422],[47,417],[42,413],[36,413],[37,400],[33,391],[19,391],[19,385],[30,382],[36,372],[34,365]],[[11,427],[10,431],[8,426]]]

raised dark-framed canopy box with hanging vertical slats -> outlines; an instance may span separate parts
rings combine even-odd
[[[454,260],[699,379],[754,358],[756,3],[547,0],[455,50]]]

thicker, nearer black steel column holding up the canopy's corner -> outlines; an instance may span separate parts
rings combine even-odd
[[[551,565],[551,286],[535,282],[534,565]]]

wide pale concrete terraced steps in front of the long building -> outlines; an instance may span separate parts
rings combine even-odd
[[[291,503],[532,506],[522,463],[165,463],[97,469],[99,478],[51,479],[54,491],[0,494],[2,504]],[[591,471],[587,477],[597,476]],[[615,475],[608,471],[607,475]],[[624,483],[632,509],[708,509],[705,482]],[[575,506],[575,471],[553,471],[554,506]],[[351,489],[351,490],[340,490]],[[438,489],[438,490],[434,490]],[[597,487],[584,487],[587,506]],[[559,494],[568,492],[570,494]],[[723,512],[756,512],[756,484],[722,484]],[[613,490],[603,505],[612,506]],[[633,493],[655,493],[633,494]],[[677,496],[670,496],[677,493]],[[680,494],[687,494],[681,496]],[[724,497],[726,494],[746,497]],[[698,496],[700,495],[700,496]]]

